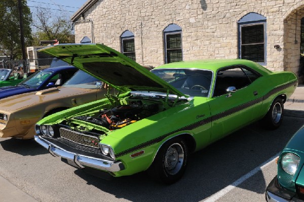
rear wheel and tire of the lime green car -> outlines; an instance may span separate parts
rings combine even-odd
[[[261,120],[263,127],[269,130],[279,128],[283,121],[283,112],[283,100],[281,98],[276,98],[271,104],[267,114]]]

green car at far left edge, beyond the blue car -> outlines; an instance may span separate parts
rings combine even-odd
[[[20,77],[20,73],[14,73],[12,69],[0,69],[0,87],[15,86],[22,80],[23,77]]]

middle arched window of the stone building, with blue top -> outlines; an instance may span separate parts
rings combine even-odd
[[[164,29],[165,38],[165,62],[182,61],[182,36],[181,27],[170,24]]]

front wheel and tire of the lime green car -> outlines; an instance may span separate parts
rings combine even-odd
[[[160,148],[148,173],[158,182],[173,184],[182,177],[187,160],[186,142],[181,138],[174,138],[165,142]]]

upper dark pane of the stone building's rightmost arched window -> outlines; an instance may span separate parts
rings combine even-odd
[[[264,25],[242,27],[242,45],[264,43]]]

